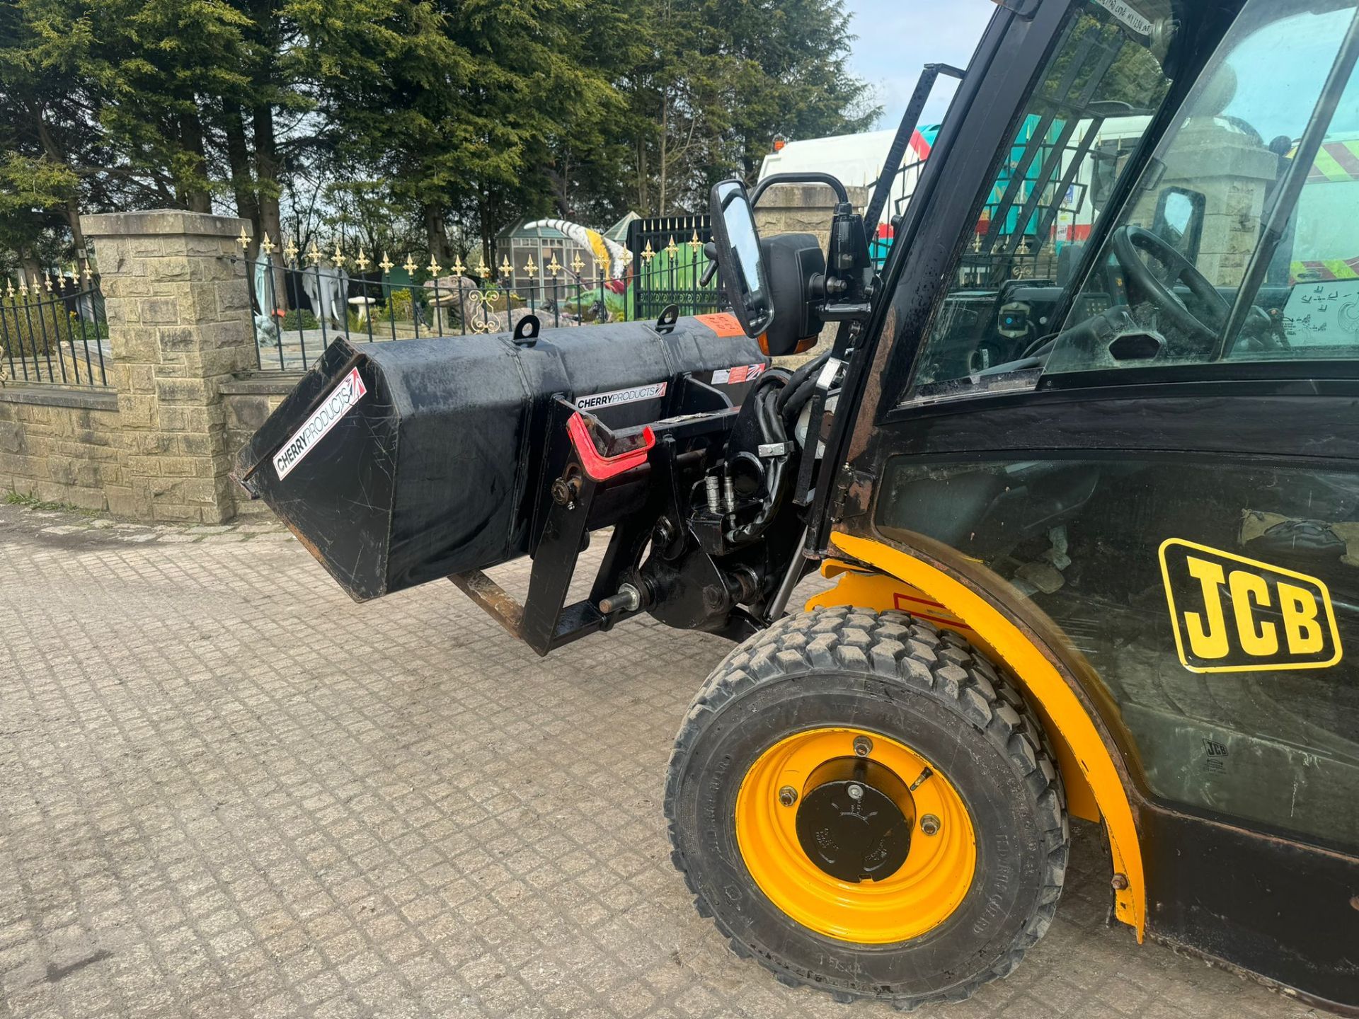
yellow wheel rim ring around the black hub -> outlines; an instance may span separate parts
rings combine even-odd
[[[912,789],[915,825],[905,863],[882,880],[859,883],[826,874],[798,840],[796,807],[809,779],[834,758],[852,757],[855,739],[867,736],[868,758],[886,766]],[[798,792],[784,806],[780,789]],[[938,819],[935,834],[923,823]],[[746,870],[779,909],[828,937],[859,944],[890,944],[919,937],[938,927],[968,895],[977,867],[977,840],[968,808],[936,765],[911,747],[878,732],[817,728],[781,739],[760,755],[737,793],[737,844]]]

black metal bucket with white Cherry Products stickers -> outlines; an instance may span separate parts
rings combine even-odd
[[[241,451],[235,477],[357,601],[485,569],[533,552],[559,397],[587,432],[624,436],[688,413],[696,389],[741,402],[768,360],[723,318],[337,340]]]

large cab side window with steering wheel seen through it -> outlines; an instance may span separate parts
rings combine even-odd
[[[1046,374],[1359,355],[1354,24],[1354,3],[1246,4],[1094,261]]]

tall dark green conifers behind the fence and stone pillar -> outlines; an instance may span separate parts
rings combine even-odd
[[[843,0],[0,0],[0,245],[69,254],[82,211],[166,205],[279,239],[291,192],[366,235],[419,223],[448,265],[526,216],[697,209],[773,135],[875,115],[847,24]]]

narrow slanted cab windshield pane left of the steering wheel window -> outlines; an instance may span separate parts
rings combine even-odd
[[[1007,144],[916,364],[913,391],[947,395],[1051,334],[1114,185],[1170,86],[1171,0],[1072,7]]]

